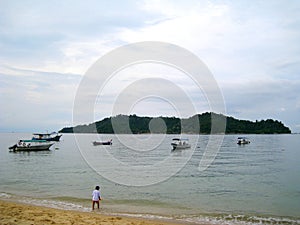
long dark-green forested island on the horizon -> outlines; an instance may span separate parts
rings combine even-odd
[[[226,121],[226,134],[290,134],[291,130],[282,122],[272,119],[249,121],[227,117],[222,114],[206,112],[187,119],[176,117],[140,117],[137,115],[118,115],[105,118],[88,125],[65,127],[60,133],[167,133],[167,134],[210,134],[211,118],[214,121]],[[162,120],[164,123],[162,123]],[[199,121],[199,123],[197,122]],[[129,126],[128,126],[129,121]],[[221,123],[221,122],[220,122]],[[200,124],[200,127],[198,127]],[[114,125],[114,126],[113,126]],[[113,129],[114,127],[114,129]],[[214,129],[212,133],[224,133]]]

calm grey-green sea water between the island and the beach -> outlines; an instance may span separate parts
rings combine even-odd
[[[0,199],[90,211],[91,193],[100,185],[104,213],[199,224],[300,224],[300,135],[248,135],[251,143],[244,146],[236,144],[237,135],[226,135],[204,171],[198,166],[210,136],[186,135],[194,148],[175,152],[173,137],[123,135],[124,144],[113,135],[81,134],[76,142],[65,134],[50,151],[13,153],[8,147],[31,134],[0,134]],[[91,144],[99,139],[113,139],[113,145]],[[105,152],[142,172],[112,164]],[[123,185],[141,176],[151,185]]]

